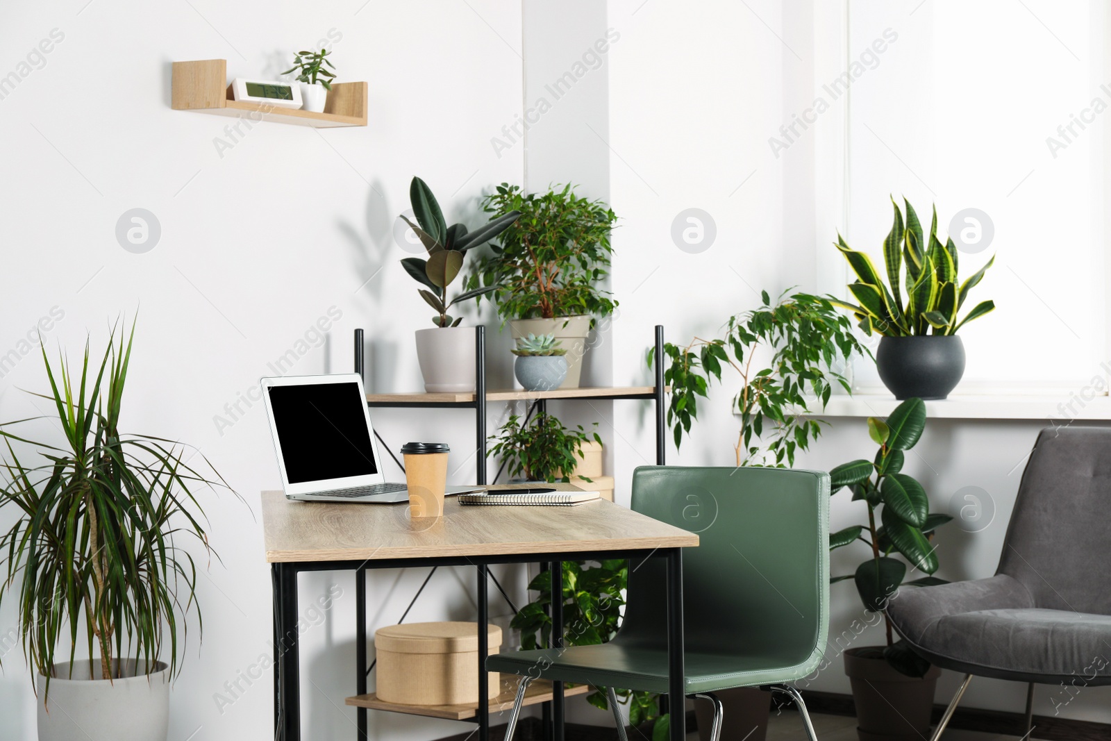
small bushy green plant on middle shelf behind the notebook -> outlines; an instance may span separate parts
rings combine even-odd
[[[548,412],[540,412],[531,420],[511,414],[498,433],[490,437],[493,444],[487,455],[500,458],[510,477],[565,483],[584,458],[582,444],[591,440],[602,442],[597,432],[588,434],[581,424],[565,428]],[[583,481],[590,479],[583,477]]]

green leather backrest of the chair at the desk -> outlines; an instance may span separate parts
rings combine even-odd
[[[697,532],[683,551],[688,651],[767,653],[817,665],[829,623],[827,473],[771,468],[642,467],[632,509]],[[662,559],[630,565],[623,642],[667,645]]]

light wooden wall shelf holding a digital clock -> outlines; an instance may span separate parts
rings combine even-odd
[[[274,108],[266,103],[231,99],[228,62],[203,59],[173,62],[172,107],[216,116],[250,116],[252,120],[278,121],[316,129],[367,126],[367,83],[336,82],[328,92],[323,113]]]

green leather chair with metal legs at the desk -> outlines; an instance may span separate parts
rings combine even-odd
[[[817,740],[801,695],[787,682],[813,672],[825,645],[829,499],[829,475],[819,471],[642,467],[633,473],[634,511],[699,535],[699,547],[683,553],[685,690],[713,703],[713,741],[722,721],[713,692],[734,687],[789,694]],[[630,570],[624,620],[610,642],[491,655],[489,671],[521,677],[506,741],[533,679],[667,692],[665,599],[665,564],[647,559]],[[612,689],[609,700],[624,741]]]

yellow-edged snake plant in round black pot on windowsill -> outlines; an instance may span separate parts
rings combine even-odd
[[[944,243],[938,238],[937,207],[927,237],[910,201],[903,202],[905,220],[891,200],[894,221],[883,240],[888,283],[867,254],[850,249],[838,234],[837,248],[857,273],[849,291],[859,303],[835,303],[853,313],[865,334],[882,337],[875,367],[895,399],[944,399],[964,374],[964,344],[957,331],[995,308],[993,301],[981,301],[963,319],[958,316],[995,258],[961,282],[959,250],[952,238]],[[900,286],[907,290],[905,303]]]

